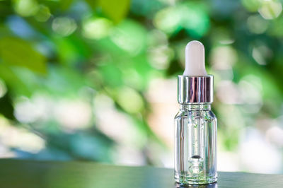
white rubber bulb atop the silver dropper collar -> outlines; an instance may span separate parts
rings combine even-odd
[[[185,71],[184,76],[207,76],[204,63],[204,45],[202,42],[193,40],[187,43],[185,48]]]

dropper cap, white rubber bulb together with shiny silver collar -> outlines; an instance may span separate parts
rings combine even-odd
[[[213,76],[207,75],[204,45],[197,40],[185,48],[185,71],[178,76],[178,102],[198,104],[213,102]]]

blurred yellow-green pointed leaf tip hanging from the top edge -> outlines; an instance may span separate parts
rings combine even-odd
[[[98,6],[102,8],[103,13],[115,23],[119,23],[120,20],[125,18],[129,11],[129,3],[130,0],[98,0]]]

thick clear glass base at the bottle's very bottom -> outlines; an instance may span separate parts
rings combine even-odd
[[[212,184],[217,182],[217,177],[189,177],[184,175],[175,175],[175,182],[178,184]]]

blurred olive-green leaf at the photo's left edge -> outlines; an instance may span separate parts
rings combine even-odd
[[[46,73],[45,57],[35,51],[28,42],[16,37],[1,38],[0,58],[11,66],[23,66],[31,71]]]

